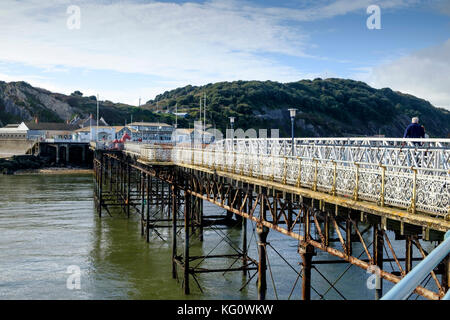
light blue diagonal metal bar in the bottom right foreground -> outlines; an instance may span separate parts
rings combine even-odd
[[[397,283],[381,300],[405,300],[420,282],[450,253],[450,231],[444,241]],[[447,292],[446,297],[450,299]]]

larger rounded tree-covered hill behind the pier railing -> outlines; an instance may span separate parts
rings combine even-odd
[[[450,112],[428,101],[389,88],[374,89],[346,79],[219,82],[167,91],[147,102],[152,110],[188,112],[198,118],[200,97],[206,94],[207,121],[217,128],[279,128],[290,135],[288,108],[297,108],[298,136],[402,136],[411,117],[419,116],[431,137],[447,137]]]

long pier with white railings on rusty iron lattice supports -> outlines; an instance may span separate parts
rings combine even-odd
[[[376,274],[374,298],[380,299],[383,280],[400,282],[413,261],[430,254],[422,243],[442,242],[450,230],[450,139],[225,139],[207,146],[91,148],[97,214],[112,215],[113,207],[128,217],[137,214],[147,242],[150,231],[158,235],[169,228],[172,276],[186,294],[193,284],[202,290],[201,273],[241,272],[248,282],[256,276],[257,298],[264,300],[270,273],[267,236],[278,232],[298,241],[302,269],[292,290],[300,282],[302,299],[311,299],[311,270],[327,263]],[[225,214],[206,219],[204,201]],[[256,225],[257,257],[248,254],[248,222]],[[215,224],[238,225],[241,246],[230,255],[192,255],[190,241],[205,241],[204,230]],[[178,243],[177,234],[183,234],[184,243]],[[393,240],[404,242],[402,252]],[[353,250],[355,243],[362,253]],[[318,251],[330,259],[315,261]],[[204,259],[225,258],[235,263],[198,267]],[[414,293],[442,299],[450,286],[448,255],[429,280],[437,290],[419,285]]]

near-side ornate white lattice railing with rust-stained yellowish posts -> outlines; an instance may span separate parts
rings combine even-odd
[[[150,162],[189,163],[239,172],[333,196],[374,202],[381,207],[402,208],[412,214],[420,212],[450,218],[450,170],[439,166],[382,163],[373,158],[333,159],[320,152],[297,156],[265,153],[259,149],[244,152],[216,144],[205,148],[127,143],[125,150]],[[448,151],[450,156],[450,149]],[[264,159],[270,165],[263,166]]]

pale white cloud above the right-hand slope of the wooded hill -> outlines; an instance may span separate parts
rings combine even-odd
[[[375,67],[367,79],[374,87],[390,87],[450,110],[450,39]]]

